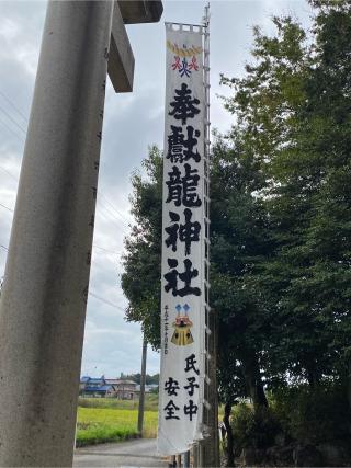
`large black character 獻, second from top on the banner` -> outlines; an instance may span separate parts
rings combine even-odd
[[[197,149],[194,151],[194,147],[197,145],[200,130],[194,130],[194,127],[188,125],[188,139],[184,138],[182,127],[171,125],[171,130],[172,134],[168,136],[168,152],[166,158],[170,159],[171,162],[184,162],[191,158],[195,162],[199,162],[201,157]]]

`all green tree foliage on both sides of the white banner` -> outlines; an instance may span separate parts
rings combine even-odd
[[[222,77],[235,118],[213,146],[211,304],[227,402],[350,379],[351,7],[310,4],[312,31],[273,18],[273,36],[254,28],[245,76]],[[127,319],[158,347],[161,152],[144,164],[122,285]]]

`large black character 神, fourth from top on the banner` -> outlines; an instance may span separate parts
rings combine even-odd
[[[190,255],[191,243],[200,240],[201,224],[191,222],[192,212],[189,208],[184,209],[185,222],[183,225],[178,222],[180,216],[177,213],[169,212],[169,216],[173,225],[165,229],[169,235],[166,239],[166,246],[172,246],[172,251],[177,252],[177,240],[179,239],[180,242],[185,243],[185,255]]]

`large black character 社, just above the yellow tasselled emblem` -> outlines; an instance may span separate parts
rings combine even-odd
[[[185,271],[183,273],[179,273],[176,269],[178,266],[178,260],[176,259],[168,259],[168,265],[171,269],[169,273],[166,273],[163,275],[165,279],[167,281],[167,285],[165,286],[166,293],[169,290],[172,292],[172,295],[184,297],[193,294],[194,296],[200,296],[201,290],[199,287],[191,287],[191,281],[192,278],[195,278],[199,276],[199,270],[191,269],[192,263],[189,259],[184,260],[184,267]],[[184,283],[184,287],[178,289],[178,279],[181,279]]]

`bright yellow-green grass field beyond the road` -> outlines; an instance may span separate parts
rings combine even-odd
[[[156,437],[157,435],[158,413],[155,410],[155,404],[157,409],[157,396],[156,398],[155,396],[151,397],[154,398],[148,398],[146,401],[144,437]],[[137,401],[93,398],[80,399],[78,407],[77,447],[138,437],[137,406]],[[150,411],[150,408],[154,408],[154,410]]]

